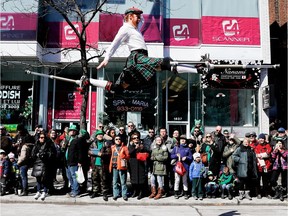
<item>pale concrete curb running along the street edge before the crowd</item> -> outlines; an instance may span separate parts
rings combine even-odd
[[[21,204],[54,204],[54,205],[126,205],[126,206],[286,206],[288,207],[287,199],[283,202],[279,200],[271,200],[263,198],[261,200],[239,200],[234,198],[233,200],[222,200],[221,198],[215,199],[204,199],[202,201],[196,201],[193,199],[189,200],[175,200],[174,197],[162,198],[157,201],[151,200],[148,197],[145,197],[141,200],[134,198],[129,198],[128,201],[122,200],[119,198],[117,201],[112,200],[112,197],[109,197],[108,202],[102,200],[102,197],[97,197],[90,199],[89,197],[76,197],[76,198],[66,198],[64,195],[61,196],[48,196],[44,201],[34,200],[33,196],[16,197],[15,195],[6,195],[0,197],[0,203],[21,203]]]

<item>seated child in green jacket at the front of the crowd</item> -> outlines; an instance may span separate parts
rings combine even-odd
[[[232,200],[232,190],[233,190],[233,174],[229,172],[228,167],[223,168],[223,172],[219,178],[219,186],[221,190],[221,199],[225,199],[225,192],[228,193],[228,199]]]

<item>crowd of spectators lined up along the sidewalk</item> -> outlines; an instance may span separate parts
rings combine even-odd
[[[201,124],[192,128],[190,137],[178,130],[169,137],[166,128],[157,134],[152,127],[144,139],[133,122],[117,130],[99,123],[91,135],[73,124],[61,134],[54,129],[46,132],[41,125],[30,135],[19,124],[14,137],[4,126],[0,129],[2,196],[33,193],[36,200],[45,200],[56,193],[67,197],[89,193],[91,199],[102,196],[105,201],[109,196],[115,201],[167,196],[283,201],[287,197],[287,131],[283,127],[273,135],[251,131],[243,139],[222,131],[221,126],[204,132]],[[28,190],[29,169],[36,178],[33,191]],[[63,187],[56,189],[59,171]]]

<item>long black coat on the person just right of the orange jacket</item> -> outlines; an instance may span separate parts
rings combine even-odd
[[[147,175],[146,175],[146,169],[147,169],[147,160],[146,161],[140,161],[136,158],[137,153],[149,153],[146,149],[140,149],[135,148],[135,145],[129,145],[129,173],[130,173],[130,181],[131,184],[144,184],[147,182]]]

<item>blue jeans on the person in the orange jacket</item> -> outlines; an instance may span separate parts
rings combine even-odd
[[[122,197],[127,197],[127,170],[117,170],[115,168],[113,168],[113,197],[119,197],[120,195],[119,179]]]

